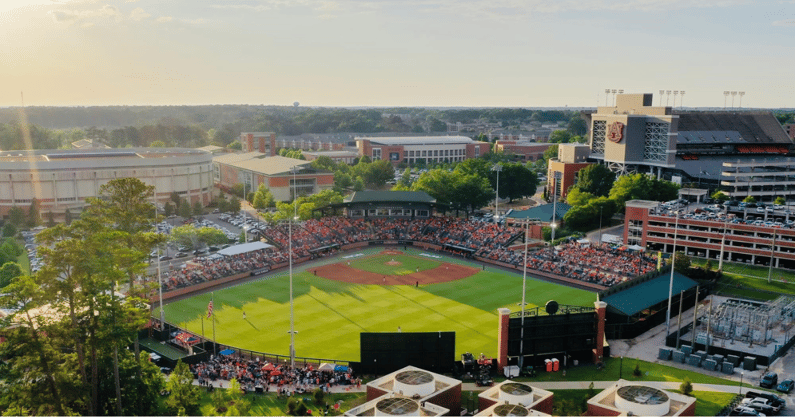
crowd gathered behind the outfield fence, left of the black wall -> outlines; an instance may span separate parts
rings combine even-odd
[[[237,379],[248,392],[276,391],[290,395],[321,388],[328,392],[332,386],[359,384],[353,369],[342,366],[339,370],[319,370],[311,365],[290,367],[273,364],[260,358],[244,359],[233,356],[213,356],[210,360],[190,365],[194,378],[202,386],[211,386],[218,380]]]

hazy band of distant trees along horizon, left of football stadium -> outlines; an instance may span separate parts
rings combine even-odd
[[[303,133],[444,132],[446,123],[490,124],[519,128],[531,122],[557,123],[579,118],[575,111],[510,108],[484,109],[348,109],[287,106],[106,106],[26,107],[30,143],[26,143],[19,108],[0,109],[0,149],[52,149],[73,141],[101,139],[109,146],[226,146],[240,132],[277,135]],[[483,133],[483,132],[475,132]]]

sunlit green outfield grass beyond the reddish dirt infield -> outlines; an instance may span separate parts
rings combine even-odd
[[[463,263],[460,259],[455,261]],[[296,352],[302,357],[358,361],[359,333],[395,332],[400,326],[404,332],[455,331],[456,357],[464,352],[495,356],[497,309],[517,311],[521,291],[521,274],[493,270],[419,288],[350,284],[298,272],[293,278]],[[210,297],[203,294],[170,303],[165,306],[166,319],[199,334],[203,322],[204,335],[209,338],[212,325],[202,317],[206,317]],[[215,291],[214,297],[219,343],[271,354],[289,353],[286,274]],[[543,306],[551,299],[561,304],[590,306],[595,295],[528,279],[529,308]]]

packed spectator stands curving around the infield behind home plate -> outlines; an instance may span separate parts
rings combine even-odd
[[[330,248],[352,243],[413,241],[439,245],[456,254],[499,261],[517,268],[524,261],[522,251],[507,247],[522,235],[522,229],[470,219],[326,217],[295,223],[292,231],[289,228],[287,224],[280,224],[266,230],[264,237],[274,245],[273,248],[234,256],[197,258],[181,269],[167,271],[163,290],[281,265],[289,258],[291,232],[294,260],[313,258]],[[534,251],[527,266],[531,270],[611,286],[653,270],[655,261],[642,253],[621,251],[607,245],[570,242],[562,247]]]

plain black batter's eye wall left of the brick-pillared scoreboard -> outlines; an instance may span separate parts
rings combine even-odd
[[[360,333],[359,373],[384,375],[408,365],[447,373],[455,361],[455,332]]]

